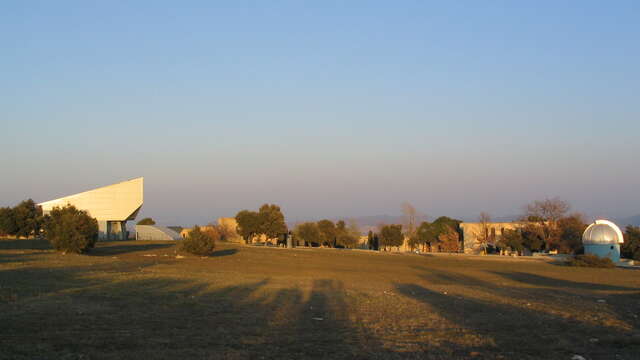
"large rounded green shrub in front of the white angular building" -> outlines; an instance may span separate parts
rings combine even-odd
[[[98,221],[74,206],[55,207],[46,218],[45,234],[54,249],[84,253],[98,240]]]

